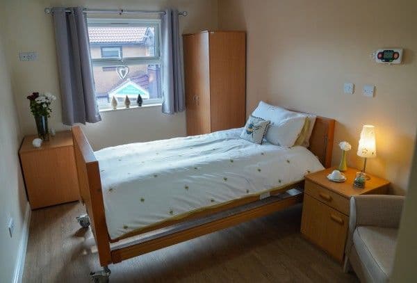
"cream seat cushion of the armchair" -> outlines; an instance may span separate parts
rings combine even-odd
[[[363,263],[363,273],[373,282],[388,282],[393,268],[398,229],[359,226],[353,234],[354,248]]]

